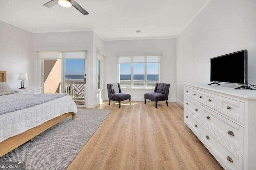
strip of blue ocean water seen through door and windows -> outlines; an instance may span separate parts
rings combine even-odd
[[[134,80],[145,80],[144,74],[134,74]],[[158,81],[158,74],[148,74],[148,81]],[[66,75],[66,79],[84,79],[84,75]],[[121,74],[121,80],[131,80],[131,75]]]

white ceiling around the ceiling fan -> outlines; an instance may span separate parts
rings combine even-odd
[[[89,15],[50,0],[0,0],[0,20],[30,32],[95,30],[104,40],[175,38],[209,0],[76,0]],[[136,33],[141,30],[141,33]]]

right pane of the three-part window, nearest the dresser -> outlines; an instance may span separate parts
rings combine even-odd
[[[159,63],[147,63],[147,85],[155,87],[159,82]]]

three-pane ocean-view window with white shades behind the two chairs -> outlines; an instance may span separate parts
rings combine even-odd
[[[160,82],[160,56],[118,57],[122,88],[154,88]]]

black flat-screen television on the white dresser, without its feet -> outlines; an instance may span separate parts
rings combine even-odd
[[[247,50],[211,58],[210,81],[248,85]]]

